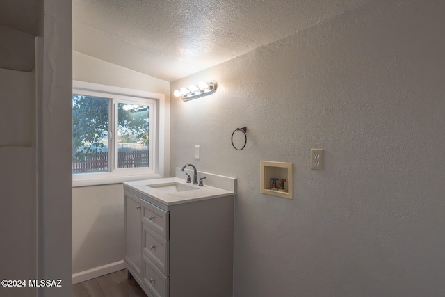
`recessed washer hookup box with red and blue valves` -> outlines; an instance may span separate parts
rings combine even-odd
[[[261,161],[260,191],[263,194],[293,199],[293,164],[284,162]],[[274,180],[285,182],[276,182]]]

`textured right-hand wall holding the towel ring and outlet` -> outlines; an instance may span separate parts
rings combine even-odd
[[[238,179],[234,296],[444,294],[444,11],[375,1],[172,83],[218,81],[172,97],[170,163]],[[261,160],[293,163],[293,200],[259,193]]]

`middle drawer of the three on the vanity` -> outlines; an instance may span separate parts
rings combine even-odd
[[[154,233],[143,224],[143,253],[165,275],[169,274],[169,241]]]

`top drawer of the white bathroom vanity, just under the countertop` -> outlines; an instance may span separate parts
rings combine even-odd
[[[154,232],[168,240],[168,211],[142,200],[142,221]]]

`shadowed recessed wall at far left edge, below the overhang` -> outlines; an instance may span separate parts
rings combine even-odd
[[[0,102],[0,275],[2,280],[35,279],[35,73],[0,68]],[[35,291],[0,287],[0,296]]]

